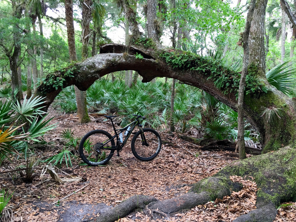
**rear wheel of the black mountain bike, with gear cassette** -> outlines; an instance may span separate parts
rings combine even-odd
[[[110,140],[110,141],[109,141]],[[84,163],[90,166],[106,164],[113,156],[114,139],[104,130],[93,130],[86,133],[79,144],[79,155]]]

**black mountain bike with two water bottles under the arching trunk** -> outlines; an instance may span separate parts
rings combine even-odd
[[[93,130],[86,133],[79,144],[79,154],[84,163],[90,166],[98,166],[106,164],[117,151],[122,150],[128,138],[131,136],[134,128],[139,127],[139,131],[135,133],[131,141],[131,151],[133,155],[141,161],[153,160],[160,152],[161,138],[157,131],[151,128],[143,128],[139,119],[146,119],[144,116],[135,115],[136,120],[121,129],[115,129],[112,118],[117,116],[105,115],[111,120],[115,135],[104,130]],[[123,131],[126,138],[123,140]],[[116,144],[115,144],[116,141]]]

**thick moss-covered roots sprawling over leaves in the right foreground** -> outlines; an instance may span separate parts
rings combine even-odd
[[[272,222],[276,207],[281,202],[295,201],[296,197],[296,150],[284,147],[279,151],[239,160],[223,168],[214,176],[202,179],[192,186],[188,193],[168,200],[158,201],[151,196],[133,196],[118,206],[108,209],[95,221],[113,222],[137,208],[144,208],[170,214],[190,209],[217,198],[239,191],[242,184],[232,182],[229,177],[251,176],[258,186],[257,209],[235,219],[235,222]]]

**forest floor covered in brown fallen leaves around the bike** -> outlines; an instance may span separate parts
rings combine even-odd
[[[76,115],[61,115],[49,109],[49,117],[54,117],[51,123],[58,124],[45,139],[56,145],[37,149],[36,155],[40,160],[62,150],[57,139],[65,128],[73,129],[78,137],[98,128],[112,133],[112,125],[104,121],[104,117],[90,115],[92,121],[81,125]],[[81,160],[77,158],[73,160],[72,168],[57,170],[61,177],[81,176],[81,181],[57,184],[48,173],[41,179],[42,168],[46,165],[44,162],[39,162],[31,184],[24,183],[18,173],[0,174],[0,188],[14,191],[9,206],[14,208],[15,221],[80,222],[94,218],[136,194],[153,195],[158,200],[177,197],[188,192],[190,184],[212,176],[238,159],[234,152],[202,151],[199,146],[178,139],[177,134],[170,135],[165,130],[160,135],[163,141],[170,143],[163,142],[162,150],[152,161],[141,162],[133,156],[130,147],[132,135],[120,152],[120,157],[114,154],[105,166],[81,166]],[[19,165],[25,165],[25,161],[5,162],[0,171],[9,171]],[[252,178],[234,176],[231,179],[241,181],[244,188],[240,192],[232,192],[231,196],[223,200],[171,215],[144,209],[134,211],[118,221],[233,221],[239,215],[255,209],[257,188]],[[72,195],[67,197],[69,194]],[[67,198],[61,200],[64,197]],[[275,221],[296,221],[296,209],[292,206],[281,208]]]

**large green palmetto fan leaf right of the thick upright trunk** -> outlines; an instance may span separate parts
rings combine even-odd
[[[296,68],[288,69],[289,61],[277,65],[266,73],[269,84],[286,95],[295,96],[296,89]]]

